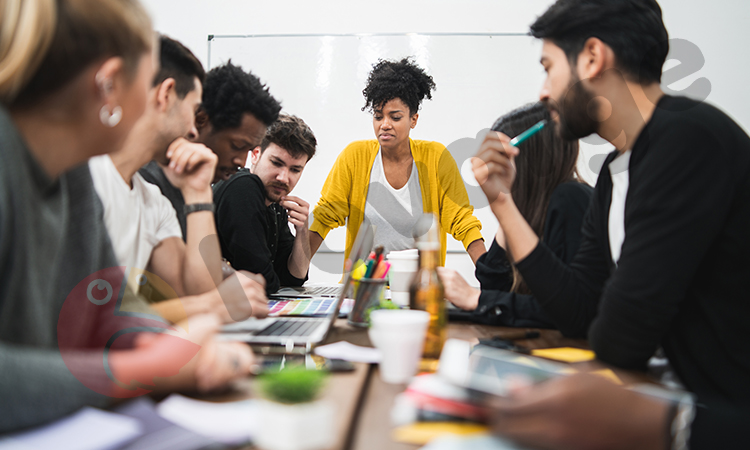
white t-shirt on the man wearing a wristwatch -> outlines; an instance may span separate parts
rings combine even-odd
[[[89,160],[91,178],[104,206],[104,224],[117,261],[146,270],[159,242],[182,239],[177,213],[159,188],[136,173],[133,188],[125,183],[109,155]]]

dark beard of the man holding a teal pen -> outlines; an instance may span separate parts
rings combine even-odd
[[[572,74],[570,84],[565,95],[557,107],[560,122],[558,133],[566,141],[576,141],[597,132],[599,122],[597,117],[596,102],[592,102],[594,95],[584,86],[578,75]]]

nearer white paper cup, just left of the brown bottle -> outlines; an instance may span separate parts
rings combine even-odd
[[[370,341],[380,350],[380,376],[386,383],[407,383],[416,373],[430,314],[379,309],[370,313]]]

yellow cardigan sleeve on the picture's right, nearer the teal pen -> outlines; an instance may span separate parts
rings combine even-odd
[[[474,216],[461,172],[450,152],[443,147],[438,161],[440,225],[468,248],[482,237],[482,223]]]

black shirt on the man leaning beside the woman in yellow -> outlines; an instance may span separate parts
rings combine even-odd
[[[216,231],[221,253],[237,270],[262,274],[266,292],[280,286],[301,286],[305,278],[289,272],[294,235],[286,210],[278,203],[266,206],[263,182],[242,169],[214,185]]]

